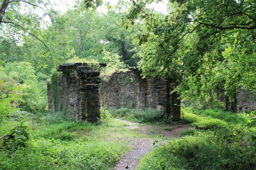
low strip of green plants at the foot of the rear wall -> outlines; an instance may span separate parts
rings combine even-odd
[[[134,120],[135,122],[148,123],[148,122],[162,122],[165,123],[167,118],[162,111],[154,109],[110,109],[113,116]]]

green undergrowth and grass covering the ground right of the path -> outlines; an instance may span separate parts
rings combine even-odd
[[[151,151],[138,169],[255,169],[256,128],[245,115],[183,108],[182,122],[194,128]]]

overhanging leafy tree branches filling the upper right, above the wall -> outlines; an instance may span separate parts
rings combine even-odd
[[[177,79],[181,99],[203,107],[223,106],[220,91],[234,101],[256,90],[253,1],[172,0],[166,15],[147,10],[152,2],[134,1],[125,20],[143,21],[133,43],[144,76]]]

